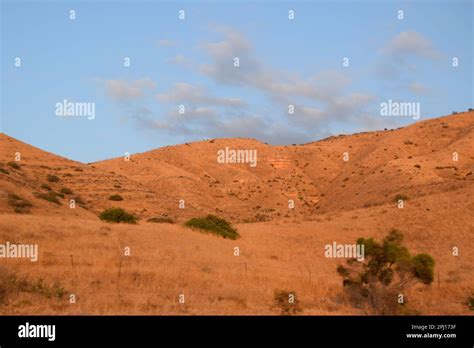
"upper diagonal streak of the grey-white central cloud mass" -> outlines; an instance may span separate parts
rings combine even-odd
[[[347,74],[322,71],[303,78],[295,73],[272,69],[256,58],[252,46],[242,35],[229,28],[218,28],[217,31],[224,38],[203,46],[211,63],[201,65],[200,72],[217,83],[253,88],[276,101],[282,109],[285,105],[295,104],[301,117],[298,119],[295,115],[293,119],[296,121],[312,120],[312,126],[317,127],[318,122],[347,119],[353,116],[354,110],[374,100],[369,94],[345,93],[351,83]],[[234,67],[234,57],[239,58],[239,67]],[[293,99],[298,102],[292,102]],[[314,103],[320,105],[317,111],[312,105]],[[330,111],[335,114],[330,114]]]

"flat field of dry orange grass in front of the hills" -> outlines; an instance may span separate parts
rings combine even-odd
[[[5,214],[0,241],[28,241],[40,248],[38,263],[5,260],[7,267],[19,276],[59,282],[77,296],[77,303],[20,294],[2,313],[278,315],[274,294],[279,290],[297,294],[302,315],[370,314],[350,305],[336,273],[342,261],[325,258],[323,250],[334,240],[379,238],[393,224],[404,224],[397,210],[387,216],[376,214],[377,209],[361,210],[357,220],[348,213],[320,222],[241,224],[237,241],[170,224],[123,226]],[[418,225],[422,220],[425,224]],[[369,229],[369,221],[378,227]],[[453,237],[445,229],[450,224],[425,231],[427,223],[431,221],[420,217],[401,229],[410,250],[436,259],[440,288],[436,279],[431,286],[411,289],[405,294],[408,305],[423,314],[470,314],[464,302],[473,287],[473,256],[453,257],[451,247],[472,248],[471,227],[463,221],[451,224]],[[240,256],[234,256],[236,246]],[[130,256],[123,256],[126,247]],[[179,294],[185,295],[185,304],[178,302]]]

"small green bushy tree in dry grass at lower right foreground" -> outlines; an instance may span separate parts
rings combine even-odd
[[[401,245],[403,234],[392,230],[382,241],[359,238],[364,246],[364,260],[347,260],[347,266],[337,266],[343,286],[351,300],[367,304],[376,314],[397,314],[403,303],[398,295],[416,282],[431,284],[435,261],[428,254],[411,256]]]

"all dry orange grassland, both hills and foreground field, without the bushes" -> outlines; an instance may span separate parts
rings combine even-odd
[[[206,165],[215,156],[214,150],[206,152],[208,146],[231,140],[138,154],[127,167],[120,158],[73,162],[2,135],[1,168],[8,174],[0,173],[0,243],[38,244],[40,256],[38,262],[0,259],[0,277],[43,279],[46,290],[12,286],[0,312],[275,315],[281,309],[274,292],[282,290],[296,295],[302,315],[372,314],[351,304],[336,273],[344,260],[326,258],[324,245],[382,239],[396,228],[412,253],[426,252],[436,261],[435,281],[410,288],[406,305],[420,314],[472,314],[466,301],[474,295],[473,129],[471,112],[296,147],[259,143],[263,159],[254,172],[245,165],[221,168],[215,159]],[[245,142],[254,144],[233,143]],[[348,163],[340,159],[346,149],[353,153]],[[6,165],[17,151],[19,170]],[[460,155],[454,164],[453,151]],[[290,164],[275,168],[278,156]],[[33,192],[49,173],[61,178],[53,189],[71,188],[85,208],[37,199]],[[31,201],[30,213],[13,212],[9,193]],[[124,201],[108,201],[112,193]],[[393,202],[397,193],[409,197],[403,209]],[[182,197],[186,209],[178,209]],[[291,198],[294,211],[286,208]],[[98,212],[110,206],[141,219],[137,225],[100,221]],[[261,220],[267,221],[258,221],[263,210]],[[241,238],[183,226],[187,218],[209,212],[232,221]],[[176,223],[146,222],[161,214]],[[453,256],[453,247],[459,256]],[[52,290],[55,284],[62,290]]]

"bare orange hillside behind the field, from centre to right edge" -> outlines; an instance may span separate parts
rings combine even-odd
[[[297,146],[215,139],[95,163],[160,195],[175,217],[218,213],[233,221],[307,220],[322,212],[472,188],[474,113],[406,128],[332,137]],[[257,165],[221,164],[225,149],[257,151]],[[344,153],[348,161],[343,160]],[[453,161],[457,152],[459,161]],[[180,199],[186,209],[176,209]],[[295,203],[288,209],[288,200]]]

